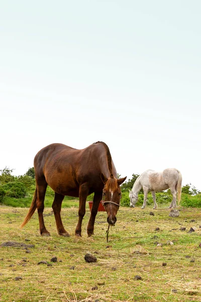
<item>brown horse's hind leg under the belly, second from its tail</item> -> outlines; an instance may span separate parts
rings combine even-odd
[[[56,220],[56,227],[57,227],[58,234],[68,237],[70,235],[64,229],[64,226],[63,226],[63,223],[62,223],[62,220],[61,220],[61,215],[60,215],[61,204],[62,204],[63,199],[64,199],[63,195],[58,194],[58,193],[55,192],[52,208],[53,208],[53,211],[54,211],[54,217],[55,217],[55,220]]]

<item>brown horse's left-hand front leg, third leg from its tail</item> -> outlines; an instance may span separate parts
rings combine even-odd
[[[88,196],[88,185],[86,183],[80,185],[79,187],[79,210],[78,210],[78,222],[75,229],[75,235],[81,237],[81,224],[82,219],[85,214],[86,207],[86,197]]]

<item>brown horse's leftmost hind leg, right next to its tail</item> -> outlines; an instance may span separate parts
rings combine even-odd
[[[46,180],[37,181],[36,207],[37,207],[37,210],[38,210],[38,219],[39,219],[40,234],[42,236],[50,236],[50,233],[45,228],[44,219],[43,219],[44,199],[45,199],[46,189],[47,189],[47,182],[46,182]]]

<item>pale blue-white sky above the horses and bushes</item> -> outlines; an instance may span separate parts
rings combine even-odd
[[[201,2],[2,1],[0,169],[102,140],[122,177],[200,183]]]

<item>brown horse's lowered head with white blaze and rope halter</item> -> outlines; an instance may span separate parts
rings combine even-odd
[[[126,180],[126,177],[117,179],[113,175],[109,178],[102,173],[101,178],[105,184],[103,189],[103,205],[108,213],[108,223],[115,225],[117,221],[117,211],[120,206],[120,199],[122,197],[120,185]]]

